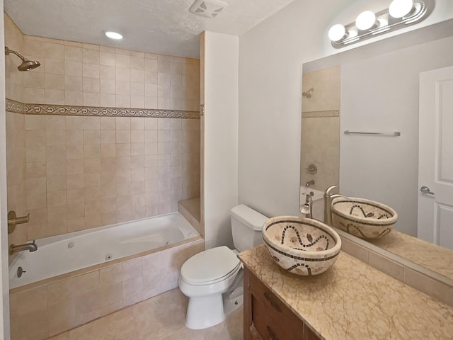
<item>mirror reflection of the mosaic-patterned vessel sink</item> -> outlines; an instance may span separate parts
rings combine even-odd
[[[365,198],[334,198],[331,210],[333,227],[362,239],[389,234],[398,219],[392,208]]]

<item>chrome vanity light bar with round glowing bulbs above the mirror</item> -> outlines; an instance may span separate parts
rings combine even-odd
[[[390,1],[390,0],[389,0]],[[435,0],[393,0],[389,8],[374,13],[364,11],[354,23],[337,23],[328,31],[333,47],[341,48],[354,42],[374,38],[382,33],[420,23],[430,15]]]

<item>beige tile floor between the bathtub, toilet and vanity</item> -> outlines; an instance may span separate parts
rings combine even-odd
[[[208,329],[185,327],[188,299],[178,288],[48,340],[242,340],[243,310]]]

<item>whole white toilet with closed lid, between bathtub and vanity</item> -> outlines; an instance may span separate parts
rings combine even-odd
[[[268,217],[242,204],[232,208],[230,215],[236,249],[207,249],[181,266],[178,285],[189,297],[185,325],[190,329],[219,324],[243,304],[243,271],[236,254],[263,243],[261,228]]]

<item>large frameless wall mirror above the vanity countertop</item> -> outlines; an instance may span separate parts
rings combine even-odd
[[[453,189],[452,56],[449,20],[304,64],[301,203],[302,193],[314,192],[314,217],[322,220],[322,193],[338,185],[344,196],[389,205],[398,212],[394,231],[366,241],[453,285],[453,195],[436,202],[440,194],[420,193],[419,181],[428,162],[434,185]],[[430,91],[442,103],[430,103],[423,118]],[[426,122],[436,128],[432,151],[419,145]]]

